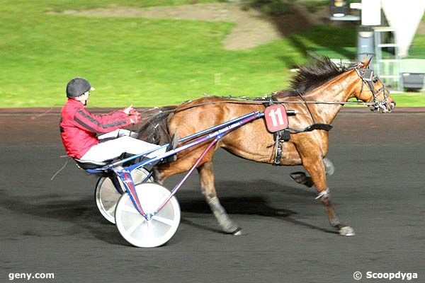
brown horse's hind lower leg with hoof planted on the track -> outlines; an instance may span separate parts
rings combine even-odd
[[[204,163],[202,166],[198,167],[198,173],[200,176],[200,187],[203,195],[205,196],[205,200],[210,205],[212,213],[214,214],[215,218],[217,218],[218,224],[220,224],[222,231],[225,231],[225,233],[232,233],[234,235],[241,235],[242,229],[234,224],[218,200],[217,192],[215,192],[214,186],[212,161]]]

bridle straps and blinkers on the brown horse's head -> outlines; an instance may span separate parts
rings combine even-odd
[[[373,103],[370,104],[370,107],[373,108],[373,111],[382,112],[382,113],[390,112],[390,110],[387,108],[390,91],[388,91],[387,87],[379,79],[379,77],[373,73],[372,69],[369,69],[369,68],[363,69],[362,67],[363,67],[363,63],[358,64],[358,66],[356,67],[356,73],[358,74],[358,76],[360,77],[362,81],[359,97],[361,96],[361,93],[363,92],[363,86],[367,85],[370,92],[373,94]],[[379,88],[378,91],[375,91],[375,88],[373,87],[373,83],[378,83],[378,81],[381,83],[382,87]],[[384,99],[379,100],[378,96],[382,92],[384,93],[383,95]]]

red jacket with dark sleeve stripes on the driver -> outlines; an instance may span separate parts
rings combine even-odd
[[[130,116],[123,111],[93,115],[84,109],[83,103],[69,98],[60,113],[60,135],[67,155],[81,158],[99,143],[96,133],[111,132],[131,125]]]

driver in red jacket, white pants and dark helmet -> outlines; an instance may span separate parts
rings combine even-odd
[[[142,154],[159,147],[157,144],[135,139],[135,132],[122,129],[140,122],[140,112],[132,106],[103,115],[88,112],[84,106],[87,105],[90,91],[94,91],[94,88],[83,78],[74,78],[67,84],[68,100],[60,115],[60,134],[68,156],[101,162],[123,153]],[[99,133],[103,135],[98,137]],[[176,139],[173,139],[171,148],[175,145]],[[162,148],[152,155],[163,154],[165,151]]]

